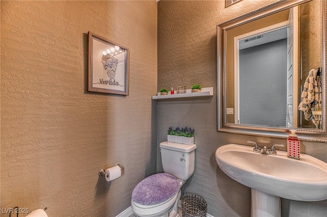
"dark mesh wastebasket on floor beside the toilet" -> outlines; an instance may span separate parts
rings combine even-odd
[[[182,197],[182,217],[204,217],[206,209],[207,203],[200,195],[186,193]]]

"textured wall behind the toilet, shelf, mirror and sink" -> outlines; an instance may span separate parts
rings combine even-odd
[[[242,0],[228,8],[224,1],[158,2],[158,90],[196,83],[217,85],[217,24],[261,8],[272,1]],[[230,179],[217,166],[215,151],[229,143],[262,144],[250,135],[217,132],[217,97],[157,103],[157,145],[167,140],[169,126],[195,128],[195,173],[183,192],[202,195],[213,216],[250,216],[250,189]],[[286,140],[268,139],[269,144]],[[301,142],[301,152],[327,161],[326,144]],[[162,171],[157,152],[157,171]],[[282,199],[282,216],[327,216],[327,200],[298,202]]]

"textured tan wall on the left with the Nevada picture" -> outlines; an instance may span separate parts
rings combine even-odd
[[[129,48],[129,96],[86,91],[88,31]],[[155,1],[1,1],[1,208],[129,207],[156,171],[156,90]],[[116,162],[122,177],[98,176]]]

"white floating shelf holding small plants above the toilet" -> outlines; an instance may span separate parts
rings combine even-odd
[[[152,99],[153,100],[178,99],[178,98],[193,98],[193,97],[204,97],[204,96],[213,96],[213,95],[214,95],[214,87],[210,87],[210,88],[202,88],[201,92],[197,92],[197,93],[192,93],[192,90],[189,89],[186,90],[186,93],[152,96]]]

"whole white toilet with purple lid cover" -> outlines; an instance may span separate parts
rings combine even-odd
[[[166,141],[159,147],[164,173],[143,179],[132,193],[131,208],[139,217],[178,217],[181,186],[194,173],[195,144]]]

